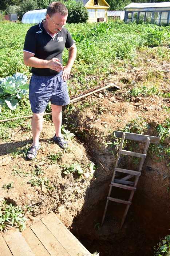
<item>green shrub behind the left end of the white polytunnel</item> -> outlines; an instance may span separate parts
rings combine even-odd
[[[19,15],[19,20],[22,19],[23,15],[25,12],[31,11],[31,10],[38,10],[38,4],[37,0],[24,0],[20,4],[20,12],[18,13]]]

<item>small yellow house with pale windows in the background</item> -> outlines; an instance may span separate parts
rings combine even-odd
[[[88,11],[88,22],[97,22],[98,18],[104,18],[104,21],[107,22],[107,9],[110,8],[110,5],[105,0],[82,1]]]

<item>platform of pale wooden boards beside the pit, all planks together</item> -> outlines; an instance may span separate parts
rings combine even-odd
[[[90,256],[91,253],[50,213],[24,230],[0,234],[0,256]]]

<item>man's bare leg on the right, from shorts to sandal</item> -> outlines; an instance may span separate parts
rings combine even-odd
[[[56,106],[51,104],[52,109],[52,121],[55,125],[55,135],[56,137],[61,137],[61,128],[62,128],[62,106]]]

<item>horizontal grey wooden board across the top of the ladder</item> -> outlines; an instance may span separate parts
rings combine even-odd
[[[114,133],[116,137],[122,138],[123,132],[114,131]],[[151,143],[159,144],[160,142],[160,138],[155,136],[149,136],[149,135],[143,135],[143,134],[131,133],[131,132],[125,132],[125,134],[126,134],[126,139],[129,139],[129,140],[137,140],[137,141],[145,142],[146,139],[149,137]]]

